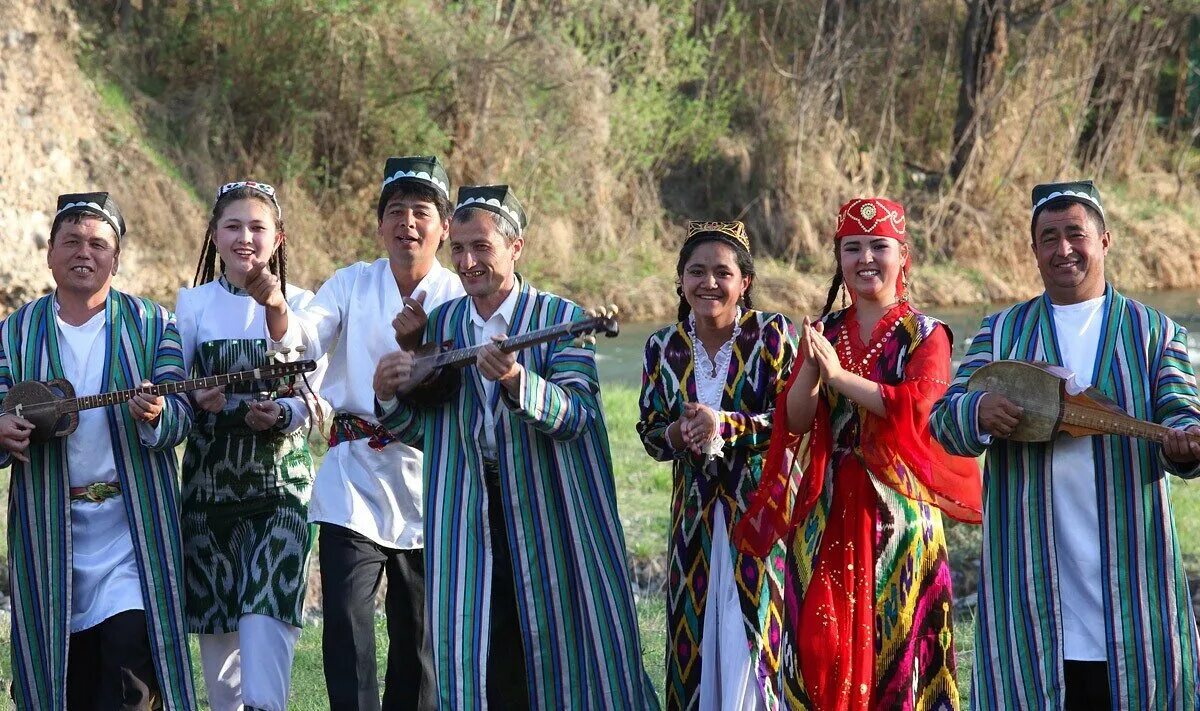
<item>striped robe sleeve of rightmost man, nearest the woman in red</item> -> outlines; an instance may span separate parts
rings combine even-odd
[[[971,341],[971,348],[962,358],[954,382],[950,383],[942,399],[934,405],[929,416],[929,429],[942,447],[959,456],[979,456],[988,449],[979,431],[979,400],[986,393],[967,392],[967,381],[980,366],[991,362],[992,329],[995,317],[984,318],[979,333]]]

